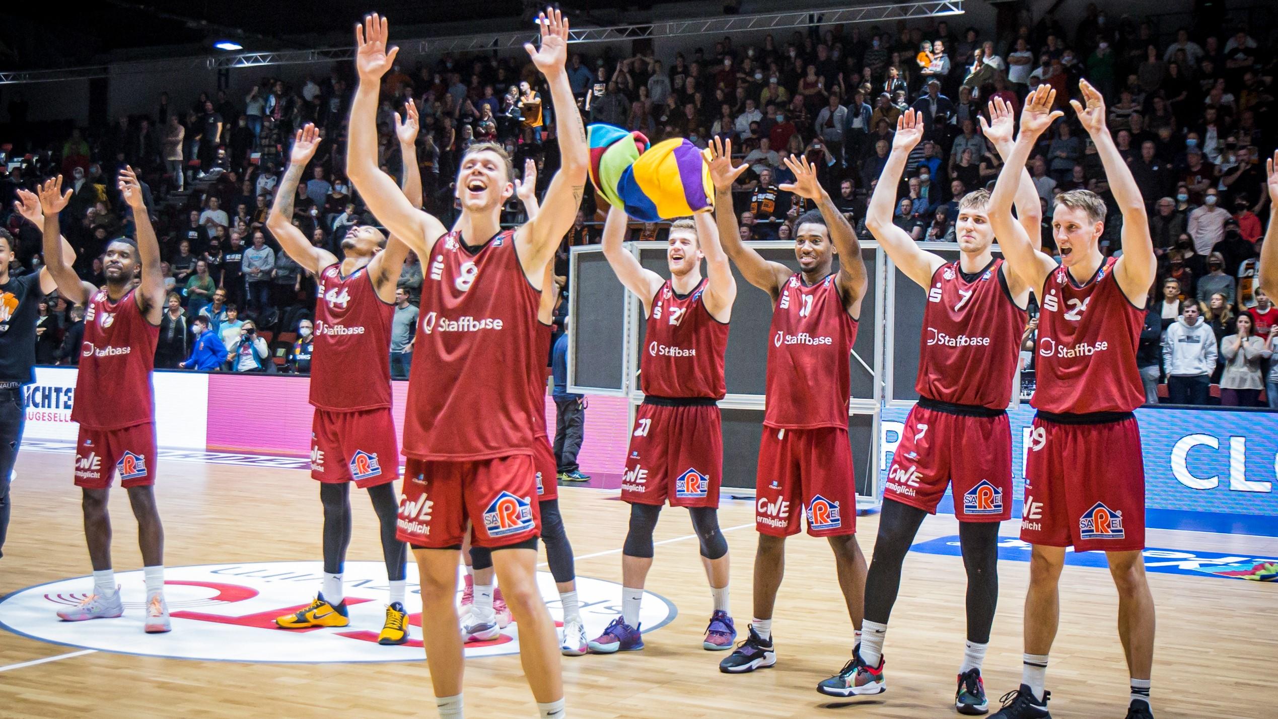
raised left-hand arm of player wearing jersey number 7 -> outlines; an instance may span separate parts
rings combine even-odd
[[[910,158],[910,151],[923,139],[923,114],[918,110],[906,110],[896,119],[892,153],[887,156],[883,174],[879,175],[874,194],[870,195],[870,204],[865,208],[865,227],[906,277],[920,287],[928,287],[932,285],[932,276],[946,261],[920,248],[914,238],[892,223],[896,189],[901,184],[901,174],[905,171],[906,160]]]

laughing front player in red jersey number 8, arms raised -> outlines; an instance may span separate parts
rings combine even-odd
[[[373,215],[427,264],[417,352],[431,359],[415,361],[409,379],[399,536],[413,545],[420,571],[422,636],[441,716],[463,714],[456,585],[468,520],[472,541],[495,550],[538,709],[543,718],[564,716],[558,640],[537,589],[533,434],[542,409],[532,406],[528,378],[546,363],[535,340],[543,273],[576,217],[589,156],[565,70],[567,22],[552,9],[537,22],[541,47],[524,47],[550,87],[560,170],[537,217],[505,231],[501,208],[514,172],[500,146],[474,143],[463,153],[455,184],[461,216],[452,231],[378,170],[377,95],[399,49],[387,47],[387,23],[376,14],[355,31],[359,88],[346,171]]]

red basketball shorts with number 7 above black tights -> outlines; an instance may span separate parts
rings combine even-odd
[[[934,515],[946,487],[953,484],[958,521],[1012,518],[1012,430],[1007,412],[978,416],[927,404],[915,405],[905,419],[883,497]]]

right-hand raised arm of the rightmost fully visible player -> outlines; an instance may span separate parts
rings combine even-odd
[[[1100,92],[1088,80],[1079,80],[1079,89],[1082,91],[1086,105],[1077,100],[1071,100],[1070,105],[1079,114],[1079,121],[1097,146],[1097,153],[1100,155],[1100,163],[1104,165],[1105,178],[1109,181],[1109,192],[1113,193],[1118,211],[1122,212],[1122,257],[1114,264],[1114,278],[1118,280],[1118,286],[1131,304],[1145,307],[1145,298],[1150,285],[1154,284],[1158,268],[1154,240],[1149,235],[1145,199],[1140,197],[1136,179],[1131,176],[1131,169],[1127,167],[1122,155],[1118,155],[1118,146],[1105,126],[1105,101],[1100,97]]]

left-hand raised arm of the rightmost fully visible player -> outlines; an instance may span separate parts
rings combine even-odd
[[[1034,149],[1034,143],[1063,115],[1059,110],[1052,110],[1053,102],[1056,91],[1047,84],[1039,86],[1025,98],[1021,134],[1005,158],[998,181],[994,183],[994,192],[989,197],[989,223],[994,227],[994,236],[998,238],[1003,257],[1007,258],[1012,272],[1039,294],[1043,291],[1043,281],[1056,269],[1056,261],[1034,249],[1029,232],[1012,218],[1012,201],[1020,189],[1021,172],[1025,170],[1030,151]]]

